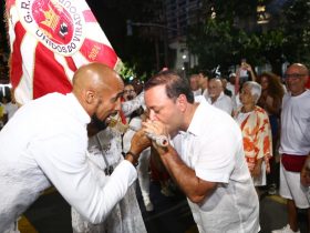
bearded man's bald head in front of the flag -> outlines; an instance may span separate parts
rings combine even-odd
[[[85,64],[73,77],[73,94],[91,116],[95,114],[101,121],[120,110],[123,89],[121,77],[102,63]]]

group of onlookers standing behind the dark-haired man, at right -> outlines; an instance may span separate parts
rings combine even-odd
[[[246,72],[249,75],[245,75]],[[299,232],[298,209],[307,210],[310,229],[307,170],[310,91],[307,67],[294,63],[283,77],[272,72],[262,72],[257,77],[251,65],[244,63],[236,73],[229,74],[228,80],[220,77],[205,79],[207,89],[200,89],[197,94],[198,88],[192,88],[193,94],[196,99],[203,95],[239,124],[255,186],[268,185],[269,194],[276,194],[279,189],[279,194],[287,200],[288,225],[272,232]],[[257,192],[259,195],[259,189]]]

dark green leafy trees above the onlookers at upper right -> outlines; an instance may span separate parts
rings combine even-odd
[[[206,20],[193,26],[187,36],[189,50],[198,55],[202,68],[227,68],[247,58],[255,65],[270,63],[272,71],[281,74],[285,59],[310,64],[309,0],[286,1],[280,10],[268,8],[275,3],[268,0],[203,2],[206,10],[200,19]],[[266,4],[270,11],[267,24],[257,24],[257,4]]]

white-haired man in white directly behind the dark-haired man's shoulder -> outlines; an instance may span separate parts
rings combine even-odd
[[[206,99],[211,105],[231,115],[232,102],[231,99],[224,93],[220,79],[211,79],[209,81],[208,95]]]

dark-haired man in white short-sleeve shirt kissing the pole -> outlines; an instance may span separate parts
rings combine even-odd
[[[195,103],[186,80],[169,71],[148,80],[145,103],[143,129],[173,140],[153,145],[186,194],[199,232],[258,232],[258,196],[234,119],[206,100]]]

